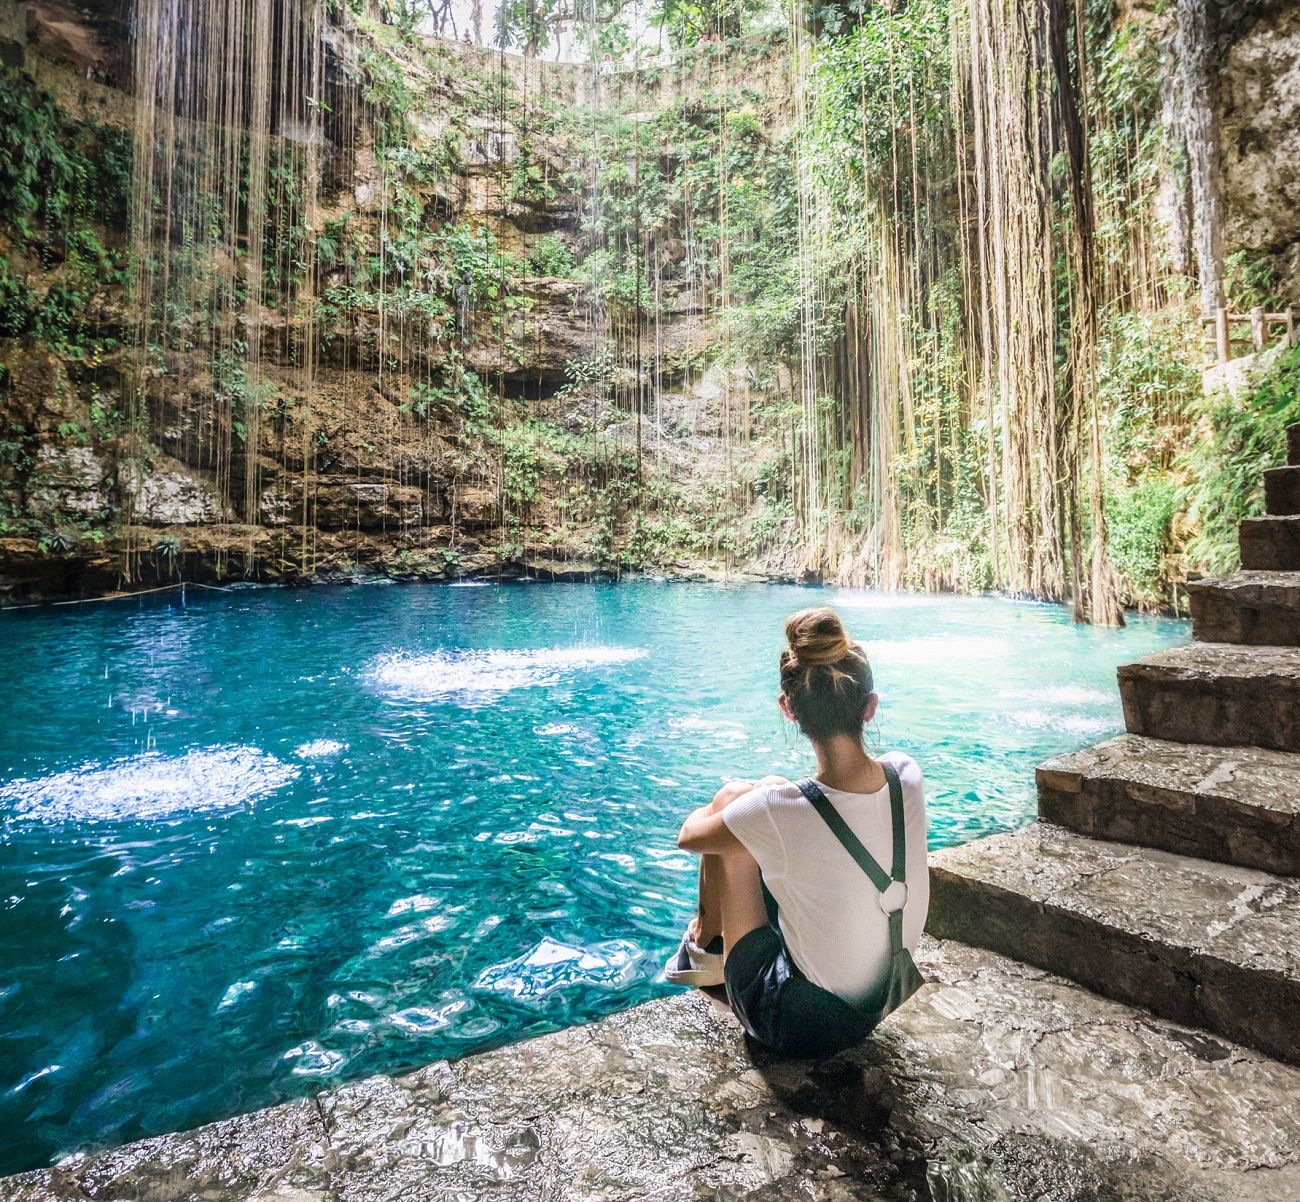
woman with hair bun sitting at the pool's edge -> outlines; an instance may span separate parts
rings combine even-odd
[[[833,609],[785,622],[781,713],[816,776],[724,785],[677,846],[698,852],[699,912],[667,980],[724,985],[758,1043],[827,1055],[861,1042],[922,984],[911,960],[930,901],[926,799],[906,755],[867,755],[871,667]]]

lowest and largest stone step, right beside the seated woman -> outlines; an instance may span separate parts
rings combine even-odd
[[[1300,880],[1046,823],[931,858],[930,923],[1300,1064]]]

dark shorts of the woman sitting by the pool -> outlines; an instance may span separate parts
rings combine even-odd
[[[723,978],[741,1027],[770,1051],[826,1056],[861,1043],[871,1032],[871,1024],[844,998],[800,972],[771,924],[736,941]]]

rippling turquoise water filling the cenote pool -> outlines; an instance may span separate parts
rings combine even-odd
[[[807,765],[783,617],[841,608],[931,845],[1017,826],[1184,641],[997,599],[621,583],[0,616],[0,1172],[663,989],[688,808]]]

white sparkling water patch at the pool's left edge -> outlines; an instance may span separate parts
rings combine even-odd
[[[40,823],[166,819],[250,804],[283,789],[299,772],[256,747],[146,751],[9,781],[0,785],[0,811]]]

